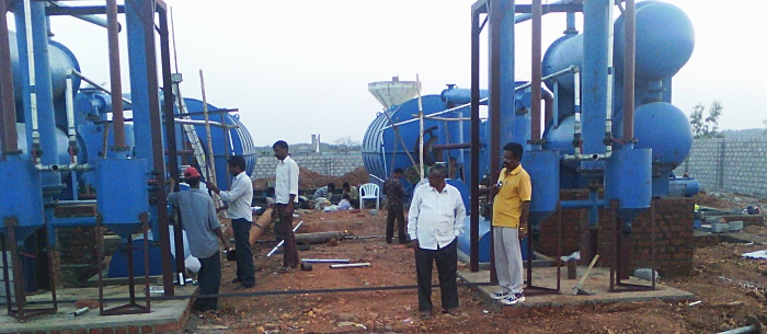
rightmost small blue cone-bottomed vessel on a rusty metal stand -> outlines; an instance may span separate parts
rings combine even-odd
[[[650,207],[652,171],[650,149],[613,151],[605,169],[605,199],[618,201],[618,217],[631,221]]]

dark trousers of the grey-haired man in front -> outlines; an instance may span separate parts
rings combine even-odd
[[[437,263],[439,274],[439,291],[442,308],[445,310],[458,307],[458,286],[456,285],[458,269],[458,240],[438,250],[415,251],[415,274],[419,281],[419,311],[432,310],[432,263]]]

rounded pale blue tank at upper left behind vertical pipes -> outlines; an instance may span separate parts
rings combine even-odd
[[[11,51],[11,68],[13,70],[13,94],[18,102],[21,102],[23,96],[21,82],[21,65],[19,62],[19,46],[16,42],[16,33],[9,31],[10,51]],[[50,85],[53,88],[54,100],[64,96],[67,88],[67,74],[69,69],[80,71],[80,64],[77,61],[75,54],[62,44],[48,39],[48,57],[50,58]],[[72,91],[80,88],[80,78],[72,78]],[[23,113],[23,111],[22,111]],[[23,118],[21,118],[23,119]]]

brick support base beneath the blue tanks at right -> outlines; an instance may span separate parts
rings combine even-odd
[[[565,189],[560,192],[562,200],[586,199],[587,191]],[[692,198],[653,199],[655,209],[655,269],[662,276],[688,275],[692,269],[692,254],[696,239],[692,222],[695,220]],[[541,223],[540,252],[547,256],[557,253],[558,214]],[[642,212],[632,222],[633,238],[628,270],[650,267],[652,265],[652,235],[650,233],[651,210]],[[599,266],[609,266],[611,261],[613,231],[617,223],[610,223],[608,209],[599,210],[597,230],[597,250]],[[581,250],[581,263],[587,263],[592,255],[585,254],[587,242],[588,211],[586,209],[568,209],[562,211],[562,253],[569,255]]]

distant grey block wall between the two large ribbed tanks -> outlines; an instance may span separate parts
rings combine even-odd
[[[364,165],[363,156],[359,152],[350,154],[305,154],[290,157],[296,160],[299,166],[321,175],[343,176]],[[276,166],[276,158],[259,157],[251,178],[272,177],[274,176],[274,169]]]

